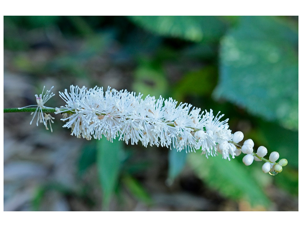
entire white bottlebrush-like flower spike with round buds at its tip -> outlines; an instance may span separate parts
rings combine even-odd
[[[44,96],[43,91],[40,96],[35,95],[37,105],[34,106],[37,109],[34,117],[38,113],[37,125],[40,120],[48,129],[49,122],[52,131],[54,118],[49,113],[42,112],[43,108],[50,108],[44,106],[54,96],[50,90]],[[110,87],[104,91],[103,87],[88,89],[71,85],[69,91],[65,89],[64,92],[59,92],[59,96],[66,105],[56,108],[55,113],[62,114],[61,120],[66,122],[63,127],[70,128],[71,135],[78,138],[100,140],[106,137],[111,142],[118,139],[127,144],[130,141],[132,145],[141,142],[143,146],[175,147],[178,151],[185,152],[202,150],[207,158],[220,153],[223,159],[228,160],[230,156],[235,158],[244,153],[245,165],[251,165],[254,160],[265,161],[262,171],[271,175],[280,173],[282,166],[287,165],[286,159],[276,163],[279,159],[278,152],[272,152],[269,160],[265,159],[267,149],[264,146],[260,146],[254,153],[254,142],[251,139],[245,140],[240,146],[243,133],[232,133],[228,119],[221,120],[224,115],[220,115],[220,112],[215,116],[213,110],[201,112],[200,108],[191,104],[177,104],[172,98],[156,99],[148,95],[143,99],[142,94]]]

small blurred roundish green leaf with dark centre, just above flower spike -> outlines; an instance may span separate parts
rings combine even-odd
[[[133,90],[144,94],[148,94],[159,98],[165,96],[168,88],[168,82],[165,74],[152,66],[142,65],[135,71],[135,81],[133,82]]]

